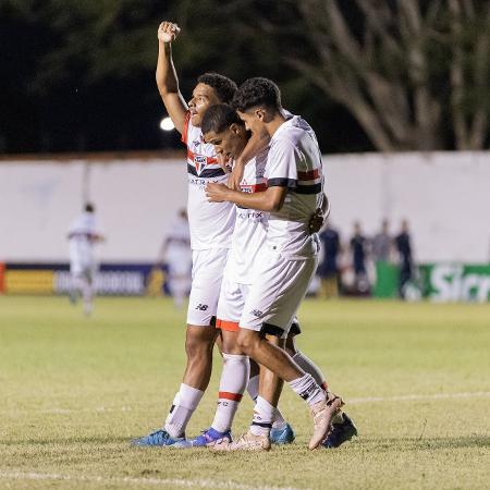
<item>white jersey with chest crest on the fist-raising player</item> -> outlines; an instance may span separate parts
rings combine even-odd
[[[203,132],[191,123],[187,112],[182,132],[187,145],[188,197],[187,213],[193,250],[230,248],[235,222],[233,204],[209,203],[205,188],[209,182],[226,183],[215,147],[203,139]]]

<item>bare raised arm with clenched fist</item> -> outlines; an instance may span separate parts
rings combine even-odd
[[[162,22],[158,28],[158,62],[157,62],[157,86],[161,99],[166,106],[175,128],[182,134],[184,120],[187,112],[182,94],[179,90],[179,79],[172,60],[172,41],[180,33],[176,24]]]

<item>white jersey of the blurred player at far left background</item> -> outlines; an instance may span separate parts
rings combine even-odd
[[[88,267],[94,262],[94,243],[101,233],[93,212],[83,212],[69,230],[70,259]]]

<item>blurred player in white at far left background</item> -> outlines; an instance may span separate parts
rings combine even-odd
[[[90,315],[95,296],[95,274],[97,262],[94,245],[103,241],[103,235],[97,228],[95,206],[87,203],[82,215],[70,226],[68,240],[70,244],[70,272],[72,284],[70,299],[76,303],[82,295],[84,314]]]

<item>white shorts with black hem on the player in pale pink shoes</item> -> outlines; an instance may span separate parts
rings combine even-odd
[[[262,253],[240,328],[286,338],[317,265],[318,256],[298,260],[272,250]]]

